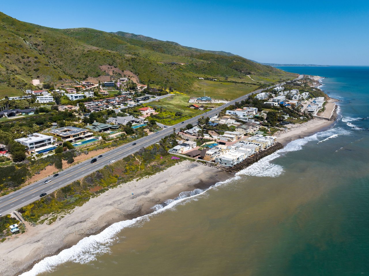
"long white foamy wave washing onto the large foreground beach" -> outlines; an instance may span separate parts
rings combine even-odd
[[[137,226],[140,222],[149,221],[150,217],[157,215],[163,211],[175,207],[177,204],[184,203],[186,200],[195,199],[197,196],[204,194],[207,190],[223,185],[239,179],[234,176],[222,182],[217,182],[208,189],[194,189],[190,192],[182,192],[175,199],[165,200],[162,204],[156,204],[152,207],[153,213],[143,215],[142,217],[132,220],[115,222],[97,235],[91,235],[81,239],[76,245],[64,249],[59,254],[46,257],[36,263],[31,270],[24,272],[20,276],[35,276],[40,273],[52,272],[56,266],[66,262],[89,263],[96,260],[96,256],[109,253],[110,245],[118,238],[118,233],[127,227]]]

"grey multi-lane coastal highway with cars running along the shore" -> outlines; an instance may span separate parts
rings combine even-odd
[[[301,79],[303,75],[300,75],[297,77],[297,79]],[[296,79],[296,80],[297,80]],[[274,86],[283,85],[284,83],[276,84]],[[270,87],[274,87],[270,86]],[[241,96],[235,100],[230,101],[227,104],[223,104],[222,106],[215,108],[211,111],[208,111],[206,113],[207,117],[212,117],[215,114],[218,114],[223,108],[228,107],[232,104],[234,104],[237,101],[242,101],[247,99],[249,96],[255,93],[261,93],[263,90],[269,89],[259,89],[255,92],[248,93],[244,96]],[[198,115],[196,117],[190,118],[189,120],[184,121],[183,123],[179,123],[176,125],[168,126],[168,128],[164,128],[159,133],[155,133],[146,137],[142,137],[140,139],[137,139],[134,142],[125,144],[123,146],[119,146],[118,148],[112,149],[110,151],[107,151],[103,153],[103,156],[101,158],[97,158],[97,161],[95,163],[91,163],[91,159],[88,159],[86,161],[83,161],[79,164],[76,164],[68,169],[65,169],[61,172],[59,172],[59,176],[57,177],[46,177],[44,179],[41,179],[35,183],[32,183],[20,190],[17,190],[13,193],[7,194],[6,196],[0,197],[0,214],[6,215],[11,213],[14,210],[17,210],[20,207],[23,207],[35,200],[40,199],[39,195],[42,193],[52,193],[55,190],[64,187],[68,185],[69,183],[72,183],[73,181],[76,181],[86,175],[89,175],[92,172],[95,172],[96,170],[99,170],[103,168],[106,165],[110,164],[111,160],[119,160],[122,159],[128,155],[131,155],[134,152],[137,152],[140,148],[146,148],[149,145],[155,144],[156,142],[159,142],[162,138],[165,136],[173,133],[173,128],[176,129],[176,132],[186,126],[187,124],[197,124],[197,120],[205,114]],[[136,145],[133,145],[136,143]],[[44,184],[45,180],[51,180],[51,182]]]

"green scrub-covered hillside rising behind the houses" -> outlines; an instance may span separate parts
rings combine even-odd
[[[130,71],[141,83],[185,93],[206,88],[197,77],[232,79],[240,85],[257,87],[262,82],[295,76],[231,53],[185,47],[142,35],[47,28],[3,13],[0,21],[0,97],[34,88],[32,79],[56,85],[89,77],[103,80],[111,75],[104,70],[107,66],[117,75]],[[255,81],[247,76],[250,74]]]

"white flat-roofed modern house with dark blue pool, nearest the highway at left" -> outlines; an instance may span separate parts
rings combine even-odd
[[[27,147],[28,152],[48,152],[55,148],[55,138],[49,135],[34,133],[28,137],[15,139],[14,141],[21,143]]]

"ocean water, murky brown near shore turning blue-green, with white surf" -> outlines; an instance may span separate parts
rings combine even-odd
[[[340,100],[330,129],[25,275],[368,275],[369,67],[281,69],[327,77],[321,89]]]

